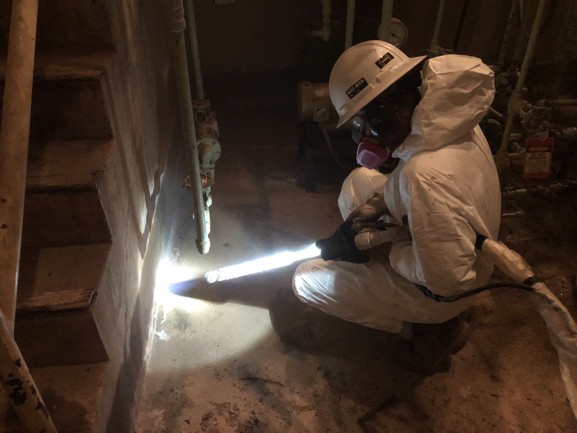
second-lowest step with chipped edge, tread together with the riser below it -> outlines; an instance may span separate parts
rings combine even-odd
[[[14,336],[29,365],[108,359],[92,302],[109,251],[110,243],[23,250]]]

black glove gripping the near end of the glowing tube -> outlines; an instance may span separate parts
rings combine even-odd
[[[369,253],[359,250],[355,244],[357,233],[353,231],[352,226],[353,220],[347,219],[331,237],[316,242],[315,245],[320,249],[323,260],[343,260],[350,263],[369,261]]]

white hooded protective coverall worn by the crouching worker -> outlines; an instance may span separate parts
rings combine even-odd
[[[479,121],[494,96],[493,72],[478,58],[443,55],[425,62],[421,102],[411,134],[396,149],[399,166],[387,177],[355,169],[344,181],[339,208],[346,219],[383,192],[399,225],[407,216],[412,240],[375,248],[365,264],[311,260],[293,278],[303,302],[340,318],[398,333],[402,322],[440,323],[471,298],[437,303],[415,283],[451,296],[484,285],[493,264],[475,238],[497,238],[499,178]],[[407,221],[405,218],[405,221]]]

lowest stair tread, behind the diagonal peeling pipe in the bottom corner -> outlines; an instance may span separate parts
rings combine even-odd
[[[107,364],[103,362],[30,369],[59,433],[92,431]],[[24,433],[2,389],[0,431]]]

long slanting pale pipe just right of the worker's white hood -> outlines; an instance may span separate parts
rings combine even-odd
[[[541,23],[545,15],[545,6],[547,0],[539,0],[539,6],[537,7],[537,14],[535,15],[535,21],[533,22],[533,28],[531,28],[531,36],[529,36],[529,42],[527,43],[527,51],[523,57],[523,64],[521,65],[521,70],[519,72],[519,79],[517,80],[517,85],[515,90],[509,98],[509,103],[507,106],[507,123],[505,124],[505,130],[503,132],[503,140],[501,141],[501,148],[499,153],[501,156],[505,155],[507,152],[507,146],[509,144],[509,136],[511,135],[511,129],[513,128],[513,121],[517,115],[518,103],[523,100],[523,86],[525,85],[525,79],[527,78],[527,72],[529,71],[529,66],[531,65],[531,60],[533,59],[533,51],[535,50],[535,44],[537,43],[537,36],[539,36],[539,30],[541,29]]]

